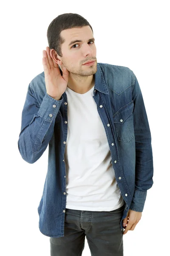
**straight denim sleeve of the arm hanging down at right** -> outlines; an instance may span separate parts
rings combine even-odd
[[[133,124],[135,133],[136,166],[135,192],[130,204],[130,209],[142,212],[147,196],[147,190],[153,185],[153,152],[150,127],[142,92],[135,75],[134,78],[132,99],[134,103]]]

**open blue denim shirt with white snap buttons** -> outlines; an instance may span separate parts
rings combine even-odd
[[[62,75],[62,70],[60,73]],[[153,185],[150,127],[142,92],[132,70],[97,63],[94,76],[93,97],[106,131],[116,181],[125,201],[123,220],[129,209],[143,211],[147,189]],[[47,94],[44,72],[31,80],[22,111],[18,149],[23,160],[35,163],[49,146],[48,170],[37,210],[40,232],[50,237],[64,236],[67,108],[65,92],[59,100]]]

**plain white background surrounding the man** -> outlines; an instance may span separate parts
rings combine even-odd
[[[0,39],[0,255],[50,256],[38,227],[48,148],[34,164],[18,150],[28,84],[43,71],[46,32],[60,14],[85,17],[94,30],[97,62],[129,67],[142,90],[152,136],[153,187],[142,218],[123,236],[125,256],[169,255],[170,15],[161,1],[6,1]],[[82,256],[91,256],[87,240]]]

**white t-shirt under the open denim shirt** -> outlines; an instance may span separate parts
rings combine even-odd
[[[112,211],[124,204],[111,152],[93,98],[94,87],[79,94],[66,88],[68,136],[65,146],[66,208]]]

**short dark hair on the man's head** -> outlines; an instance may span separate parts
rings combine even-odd
[[[83,26],[91,27],[88,21],[77,13],[64,13],[57,16],[51,21],[47,29],[49,48],[54,49],[62,57],[61,45],[65,42],[65,39],[61,37],[60,32],[64,29]],[[92,27],[91,30],[93,32]]]

